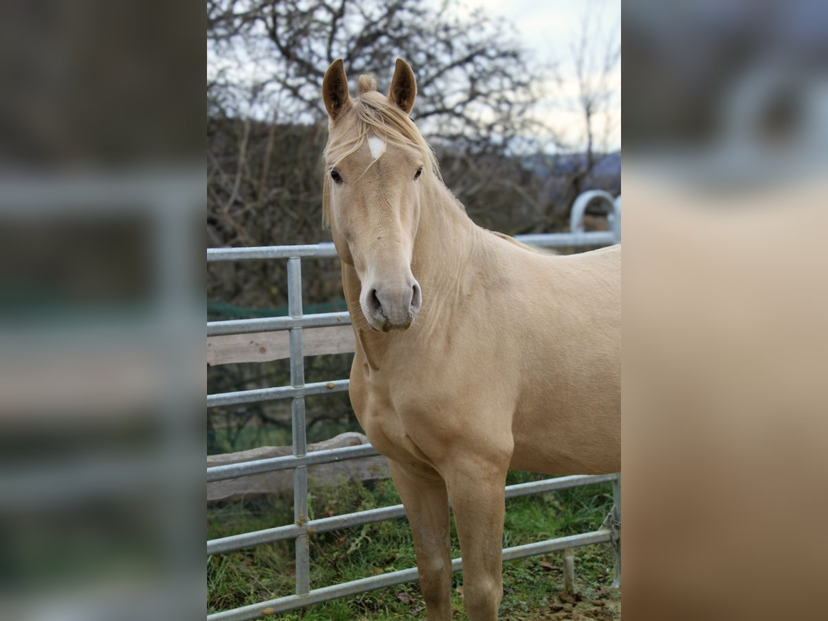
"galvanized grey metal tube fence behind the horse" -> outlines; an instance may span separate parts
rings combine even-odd
[[[585,232],[583,216],[590,205],[604,208],[609,219],[608,231]],[[593,190],[580,195],[572,206],[569,233],[551,233],[542,235],[522,235],[517,239],[545,248],[600,247],[621,240],[621,197],[613,198],[606,192]],[[318,604],[330,599],[365,593],[417,579],[416,567],[407,570],[375,575],[362,580],[352,580],[339,585],[310,589],[310,554],[308,538],[320,532],[329,532],[340,528],[353,527],[374,522],[383,522],[404,517],[402,504],[349,513],[334,517],[309,520],[307,509],[307,467],[340,460],[378,455],[371,445],[349,446],[339,449],[320,450],[308,454],[306,451],[305,397],[327,392],[348,390],[349,380],[339,379],[331,382],[305,383],[303,328],[345,325],[350,323],[347,312],[320,313],[303,315],[301,289],[301,259],[335,257],[333,243],[319,243],[305,246],[270,246],[262,248],[209,248],[208,262],[240,261],[246,259],[287,259],[287,317],[272,317],[248,320],[211,321],[207,324],[207,335],[230,335],[267,330],[290,330],[291,385],[277,388],[261,388],[239,392],[224,392],[207,396],[207,406],[228,406],[240,403],[269,401],[272,399],[292,399],[291,429],[292,455],[253,460],[238,464],[219,465],[207,469],[207,481],[236,479],[249,474],[259,474],[275,470],[293,469],[293,517],[294,523],[285,526],[267,528],[262,531],[244,532],[230,537],[222,537],[207,542],[208,555],[238,550],[262,543],[293,539],[296,542],[296,595],[287,595],[270,599],[259,604],[251,604],[236,609],[209,614],[209,621],[219,619],[258,619],[265,614],[274,614],[297,609],[309,604]],[[621,487],[619,474],[601,474],[597,476],[574,475],[508,485],[506,498],[517,498],[532,493],[551,492],[570,489],[582,485],[613,482],[613,511],[604,521],[602,527],[594,532],[585,532],[570,537],[559,537],[545,542],[535,542],[524,546],[508,547],[503,550],[503,560],[513,561],[527,556],[546,554],[552,551],[566,551],[577,546],[609,542],[614,546],[615,577],[614,586],[620,586],[620,550],[619,527]],[[462,569],[461,559],[452,561],[452,569]],[[571,580],[571,558],[564,563],[565,579]]]

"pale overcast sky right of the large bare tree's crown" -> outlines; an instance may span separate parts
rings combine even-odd
[[[578,143],[583,122],[575,111],[577,86],[574,80],[570,47],[578,41],[581,20],[591,4],[599,19],[601,31],[614,33],[621,41],[620,0],[461,0],[468,7],[481,7],[512,22],[524,44],[537,60],[557,65],[563,79],[560,87],[546,84],[547,99],[538,109],[538,116],[563,132],[567,142]],[[608,37],[596,41],[600,49],[606,47]],[[607,147],[621,148],[621,63],[612,80],[614,96],[609,112]],[[597,119],[599,132],[604,132],[604,119]],[[580,133],[579,133],[580,132]]]

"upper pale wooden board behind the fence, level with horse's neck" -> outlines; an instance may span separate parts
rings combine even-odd
[[[354,351],[354,329],[350,325],[304,328],[302,334],[306,356],[349,354]],[[290,356],[287,330],[207,337],[207,363],[211,366],[271,362]]]

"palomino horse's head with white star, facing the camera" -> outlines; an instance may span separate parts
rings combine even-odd
[[[414,238],[424,186],[436,162],[408,113],[414,73],[402,59],[388,96],[362,75],[351,99],[342,60],[325,73],[322,99],[330,117],[325,147],[325,220],[339,257],[362,284],[359,303],[374,330],[405,330],[422,301],[412,274]]]

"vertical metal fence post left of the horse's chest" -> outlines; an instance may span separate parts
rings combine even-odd
[[[287,260],[287,310],[293,319],[302,315],[302,265],[301,259]],[[300,388],[305,384],[305,352],[302,343],[302,329],[291,328],[291,386]],[[305,426],[305,397],[294,397],[291,402],[291,428],[293,455],[302,457],[307,453]],[[302,525],[308,521],[308,474],[307,466],[293,470],[293,519]],[[307,533],[296,537],[296,595],[310,591],[310,551]]]

